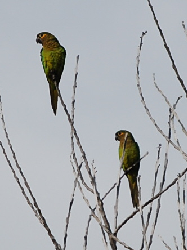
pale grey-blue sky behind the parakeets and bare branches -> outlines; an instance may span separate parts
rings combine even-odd
[[[152,4],[185,82],[187,39],[181,23],[187,24],[187,2],[154,0]],[[70,128],[60,102],[57,116],[51,108],[48,83],[40,61],[41,45],[35,42],[39,32],[53,33],[67,50],[60,89],[68,108],[75,59],[80,55],[75,125],[89,162],[95,161],[101,196],[117,179],[118,142],[114,134],[126,129],[133,133],[141,155],[149,151],[139,171],[142,200],[148,200],[157,147],[162,144],[163,168],[165,142],[146,115],[136,87],[136,56],[142,31],[148,34],[142,50],[141,83],[151,113],[167,133],[168,107],[153,86],[152,74],[155,73],[157,84],[171,103],[183,95],[178,109],[184,124],[187,119],[184,92],[171,68],[147,1],[1,0],[0,30],[0,94],[7,129],[19,164],[57,241],[63,241],[74,180],[69,162]],[[184,138],[180,130],[178,135]],[[2,128],[0,139],[13,163]],[[182,146],[185,150],[185,138]],[[172,148],[169,156],[166,185],[186,167],[180,154]],[[23,198],[2,152],[0,166],[1,249],[54,249],[47,232]],[[171,247],[174,247],[174,235],[178,243],[181,241],[176,199],[176,187],[162,197],[152,249],[164,249],[159,235]],[[126,178],[122,182],[120,201],[119,223],[133,211]],[[112,228],[113,207],[114,193],[106,200]],[[67,249],[82,249],[88,215],[89,210],[77,190]],[[132,248],[140,249],[141,230],[138,214],[118,236]],[[104,249],[100,228],[94,220],[88,249]],[[119,246],[119,249],[124,248]]]

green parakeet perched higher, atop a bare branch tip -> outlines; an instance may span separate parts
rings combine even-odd
[[[48,32],[37,34],[36,42],[43,46],[40,52],[41,61],[49,83],[51,106],[56,115],[58,93],[54,82],[56,81],[57,86],[59,86],[65,65],[66,50],[60,45],[57,38]]]

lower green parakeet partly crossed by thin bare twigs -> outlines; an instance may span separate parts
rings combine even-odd
[[[137,164],[127,173],[129,188],[132,197],[132,204],[133,207],[137,208],[139,205],[137,176],[138,176],[138,170],[140,168],[140,149],[137,142],[134,140],[134,137],[132,136],[131,132],[129,131],[120,130],[116,132],[115,140],[120,142],[119,159],[121,159],[121,157],[123,156],[123,150],[125,150],[125,155],[122,165],[123,170],[124,171],[127,170],[129,167],[132,167],[132,165],[137,162]]]

